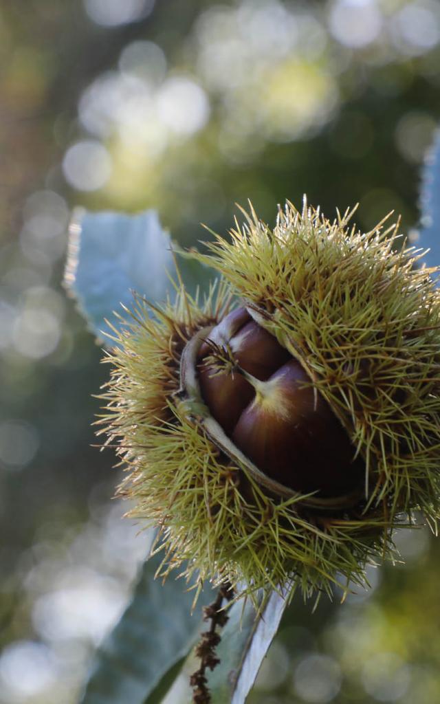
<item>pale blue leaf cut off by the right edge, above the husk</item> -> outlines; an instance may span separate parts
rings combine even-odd
[[[440,132],[437,133],[422,170],[420,192],[422,218],[420,220],[420,244],[429,252],[423,258],[428,266],[440,265]]]

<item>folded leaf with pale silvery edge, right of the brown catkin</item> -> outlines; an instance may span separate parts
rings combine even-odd
[[[232,606],[217,648],[220,665],[208,675],[213,704],[246,701],[286,607],[287,601],[276,592],[259,615],[250,601],[244,608],[240,601]]]

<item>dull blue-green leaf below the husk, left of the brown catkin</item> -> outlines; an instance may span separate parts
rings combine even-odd
[[[179,674],[213,591],[203,589],[191,614],[194,591],[184,580],[153,579],[160,562],[156,555],[145,563],[132,602],[96,654],[81,704],[153,704]]]

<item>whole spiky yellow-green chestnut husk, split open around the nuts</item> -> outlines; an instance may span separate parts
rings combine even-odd
[[[120,494],[135,501],[130,515],[160,528],[164,573],[181,567],[251,596],[287,582],[291,593],[331,593],[336,575],[361,583],[367,562],[392,555],[401,512],[423,508],[435,520],[439,295],[428,272],[413,270],[413,253],[393,253],[396,232],[359,234],[347,222],[288,206],[270,232],[252,216],[232,243],[218,238],[200,256],[229,284],[202,306],[181,290],[156,318],[137,301],[117,335],[101,422],[129,471]],[[349,513],[268,494],[177,394],[184,344],[237,293],[301,361],[364,456],[365,501]]]

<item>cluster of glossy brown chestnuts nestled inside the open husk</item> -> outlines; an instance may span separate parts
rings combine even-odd
[[[229,346],[235,370],[219,372],[213,343]],[[363,486],[363,460],[354,458],[355,448],[329,404],[301,364],[246,308],[233,310],[213,327],[197,360],[201,396],[210,414],[270,479],[320,498],[344,496]]]

